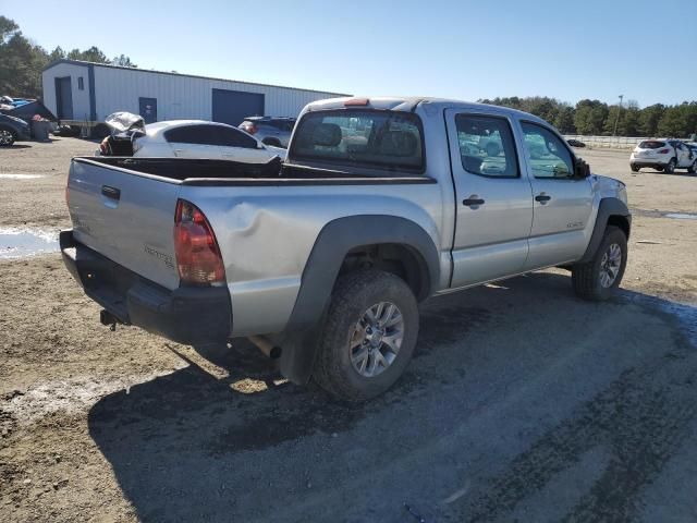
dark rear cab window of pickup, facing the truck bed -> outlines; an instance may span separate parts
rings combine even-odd
[[[387,171],[426,170],[424,130],[411,112],[339,109],[306,113],[297,123],[289,156]]]

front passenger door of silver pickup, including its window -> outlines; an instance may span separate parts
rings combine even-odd
[[[521,122],[533,184],[534,220],[525,269],[575,262],[585,252],[592,224],[590,179],[574,177],[574,155],[552,130]]]

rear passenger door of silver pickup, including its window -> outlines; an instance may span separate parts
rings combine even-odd
[[[511,120],[485,112],[445,111],[455,185],[452,288],[523,270],[533,224],[530,183],[522,169]]]

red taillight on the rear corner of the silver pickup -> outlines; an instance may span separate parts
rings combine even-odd
[[[210,223],[198,207],[185,199],[176,202],[174,253],[182,282],[195,285],[224,283],[225,269]]]

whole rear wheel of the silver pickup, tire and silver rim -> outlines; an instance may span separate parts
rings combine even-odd
[[[406,368],[418,337],[418,306],[401,278],[367,269],[341,277],[318,340],[313,379],[330,394],[364,401]]]

